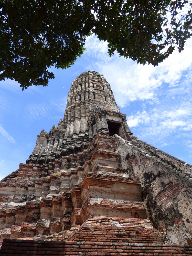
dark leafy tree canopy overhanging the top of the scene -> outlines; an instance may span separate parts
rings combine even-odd
[[[158,65],[192,29],[192,1],[0,0],[0,79],[46,86],[48,68],[68,68],[91,33],[108,52]]]

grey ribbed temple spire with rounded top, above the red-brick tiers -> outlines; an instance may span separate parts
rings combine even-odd
[[[62,155],[80,152],[97,133],[109,134],[105,114],[96,122],[95,114],[101,112],[111,113],[113,118],[108,119],[116,118],[127,126],[126,117],[116,105],[107,80],[96,71],[83,72],[71,84],[63,120],[60,118],[58,127],[54,125],[49,134],[37,136],[35,149],[27,163],[48,163]],[[120,117],[114,117],[114,113]]]

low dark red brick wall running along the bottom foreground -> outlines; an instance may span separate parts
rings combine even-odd
[[[11,243],[10,243],[11,242]],[[106,242],[50,242],[4,240],[1,256],[38,255],[132,255],[132,256],[186,256],[192,254],[192,246]]]

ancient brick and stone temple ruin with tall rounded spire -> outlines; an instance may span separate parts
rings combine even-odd
[[[192,255],[192,166],[139,140],[95,71],[0,182],[1,255]]]

